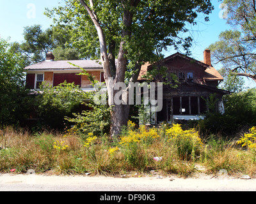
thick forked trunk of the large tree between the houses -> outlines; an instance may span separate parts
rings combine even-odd
[[[113,87],[118,82],[124,82],[125,78],[125,70],[127,68],[127,59],[125,58],[125,54],[127,53],[124,49],[125,38],[131,36],[131,25],[132,25],[132,17],[133,13],[131,11],[131,6],[138,6],[140,0],[131,0],[131,1],[121,1],[124,6],[124,30],[122,32],[122,40],[120,42],[120,47],[118,51],[118,60],[116,70],[113,69],[113,56],[108,55],[106,38],[104,36],[104,32],[97,18],[97,13],[93,11],[93,0],[90,0],[90,7],[84,2],[84,0],[79,0],[80,3],[84,6],[90,17],[92,18],[92,22],[97,29],[97,33],[99,36],[100,42],[100,58],[102,60],[103,69],[104,69],[104,78],[106,81],[107,89],[108,89],[108,103],[109,105],[114,105],[113,110],[111,111],[111,136],[118,136],[120,134],[121,128],[124,125],[127,125],[127,120],[129,116],[129,105],[116,105],[114,103],[114,97],[116,92]],[[111,48],[111,47],[109,47]],[[110,62],[109,62],[110,59]],[[115,76],[113,76],[115,75]],[[135,77],[134,77],[135,78]],[[138,78],[138,76],[137,76]],[[110,82],[113,80],[113,83]],[[132,80],[134,81],[134,79]],[[128,89],[127,89],[128,90]],[[126,91],[127,91],[126,90]]]

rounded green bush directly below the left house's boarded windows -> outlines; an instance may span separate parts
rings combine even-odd
[[[49,128],[65,128],[64,117],[71,117],[79,112],[81,103],[87,99],[87,94],[79,86],[66,81],[56,87],[43,83],[42,94],[36,97],[38,115],[42,124]]]

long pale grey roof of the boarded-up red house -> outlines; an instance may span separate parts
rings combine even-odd
[[[26,70],[43,70],[43,69],[79,69],[77,66],[73,66],[72,64],[76,64],[81,68],[86,69],[103,69],[100,60],[69,60],[69,61],[42,61],[36,64],[27,66]]]

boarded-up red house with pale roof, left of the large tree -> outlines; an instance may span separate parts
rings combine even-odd
[[[68,62],[76,64],[76,66]],[[74,82],[79,85],[83,91],[93,90],[91,82],[86,76],[77,75],[77,73],[82,72],[77,66],[86,69],[88,73],[95,77],[95,80],[104,82],[103,68],[99,62],[93,60],[54,61],[54,55],[48,52],[45,61],[25,68],[27,73],[26,87],[36,90],[43,81],[56,86],[66,80],[68,83]]]

